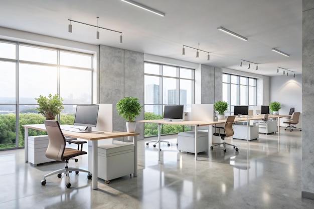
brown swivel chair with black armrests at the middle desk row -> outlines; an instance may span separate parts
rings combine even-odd
[[[224,127],[213,126],[213,127],[215,127],[215,133],[213,135],[214,136],[220,136],[222,140],[225,140],[225,137],[232,136],[234,134],[233,129],[232,129],[232,125],[233,125],[234,119],[235,119],[235,115],[231,115],[231,116],[227,117]],[[217,128],[219,130],[218,133],[217,133]],[[223,129],[224,133],[220,133],[220,129]],[[224,145],[224,152],[226,152],[226,144],[230,145],[230,146],[233,146],[233,148],[235,148],[236,151],[239,151],[237,146],[235,146],[233,144],[229,144],[229,143],[227,143],[225,141],[222,142],[222,143],[219,143],[219,144],[215,144],[214,146],[219,146],[220,144]],[[211,149],[213,149],[214,146],[211,146]]]

